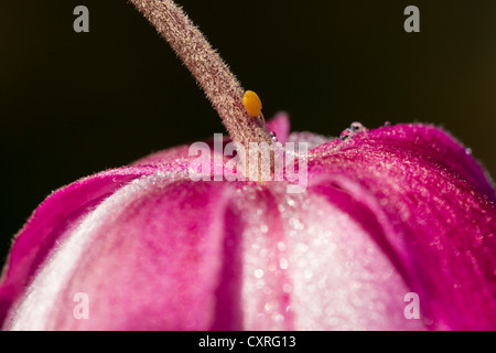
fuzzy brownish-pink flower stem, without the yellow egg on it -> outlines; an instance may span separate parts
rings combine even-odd
[[[202,32],[172,0],[131,0],[198,82],[234,142],[272,143],[265,125],[242,105],[245,89]]]

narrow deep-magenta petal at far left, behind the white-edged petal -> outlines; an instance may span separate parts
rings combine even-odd
[[[108,170],[50,195],[14,238],[0,281],[0,324],[51,249],[80,218],[126,183],[152,172],[149,168]]]

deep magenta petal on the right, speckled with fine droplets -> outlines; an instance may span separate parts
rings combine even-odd
[[[432,328],[496,328],[494,190],[462,146],[433,127],[405,125],[313,152],[324,157],[309,163],[310,184],[343,190],[376,215],[377,242]]]

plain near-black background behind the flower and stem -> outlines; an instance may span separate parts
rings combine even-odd
[[[266,117],[337,136],[433,122],[496,175],[496,1],[181,0]],[[89,33],[73,9],[89,9]],[[406,33],[403,9],[420,9]],[[169,45],[126,0],[4,1],[0,10],[0,264],[52,192],[224,132]]]

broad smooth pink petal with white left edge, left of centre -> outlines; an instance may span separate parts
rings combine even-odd
[[[9,328],[239,328],[233,185],[157,173],[120,189],[54,252]],[[73,315],[78,292],[89,299],[88,320]]]

